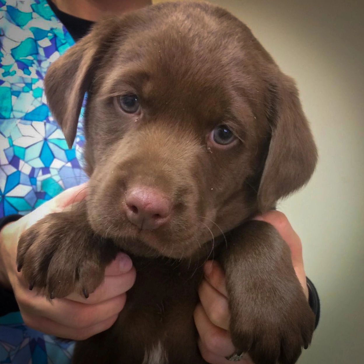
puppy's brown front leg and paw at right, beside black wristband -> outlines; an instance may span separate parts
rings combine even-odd
[[[293,364],[307,347],[314,314],[294,272],[290,249],[272,225],[249,221],[222,255],[238,351],[255,364]]]

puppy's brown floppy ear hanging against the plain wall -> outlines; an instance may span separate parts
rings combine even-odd
[[[316,145],[294,81],[280,74],[270,93],[272,138],[258,189],[261,212],[307,183],[317,162]]]

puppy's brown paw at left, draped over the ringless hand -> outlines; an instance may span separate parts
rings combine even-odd
[[[72,292],[87,298],[102,283],[115,255],[115,246],[96,236],[85,217],[62,212],[47,215],[21,235],[17,264],[29,289],[35,287],[48,298]]]

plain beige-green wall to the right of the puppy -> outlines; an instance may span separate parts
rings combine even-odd
[[[364,363],[364,1],[211,2],[244,21],[296,79],[319,149],[308,186],[279,205],[321,298],[298,363]]]

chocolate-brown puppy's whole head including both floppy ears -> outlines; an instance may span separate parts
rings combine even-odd
[[[180,258],[304,185],[316,147],[293,81],[221,8],[105,19],[48,70],[69,146],[85,92],[92,228]]]

